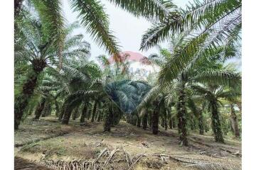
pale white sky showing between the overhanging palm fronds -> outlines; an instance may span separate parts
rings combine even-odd
[[[174,4],[178,7],[185,7],[188,0],[174,0]],[[117,8],[113,4],[110,4],[107,0],[102,0],[102,4],[105,5],[105,11],[110,18],[110,30],[114,32],[114,35],[121,45],[122,51],[133,51],[140,52],[144,56],[149,56],[152,53],[158,52],[157,49],[151,48],[150,50],[139,51],[139,45],[144,32],[151,26],[149,21],[144,18],[136,18],[127,11],[123,11],[121,8]],[[63,0],[63,11],[65,13],[65,18],[67,23],[73,23],[78,21],[78,13],[73,12],[70,8],[70,3],[68,0]],[[107,52],[103,47],[98,47],[94,40],[90,37],[90,33],[86,32],[85,28],[78,28],[74,31],[74,34],[82,33],[85,35],[85,40],[90,42],[91,45],[91,59],[99,55],[107,55]],[[163,47],[167,47],[164,43]]]

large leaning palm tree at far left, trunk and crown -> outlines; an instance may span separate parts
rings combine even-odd
[[[43,33],[41,21],[36,18],[28,18],[21,23],[21,39],[15,43],[15,63],[29,63],[26,80],[18,82],[21,84],[21,93],[15,96],[14,105],[14,127],[18,129],[24,109],[28,101],[33,96],[33,91],[38,84],[38,77],[46,67],[58,64],[58,49],[52,43],[53,39],[48,34]],[[65,46],[63,47],[64,57],[86,57],[90,45],[82,40],[81,36],[70,38],[73,28],[72,24],[65,29]],[[33,38],[31,38],[33,37]]]

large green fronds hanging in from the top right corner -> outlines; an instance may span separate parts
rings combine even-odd
[[[142,36],[141,49],[170,40],[174,34],[189,35],[183,40],[187,43],[164,65],[169,69],[170,79],[174,79],[191,62],[197,62],[218,47],[240,44],[241,8],[241,0],[195,1],[186,10],[176,10],[166,20],[154,23]],[[176,67],[169,68],[174,63]]]

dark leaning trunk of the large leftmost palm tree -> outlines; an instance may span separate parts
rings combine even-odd
[[[38,75],[46,67],[46,62],[44,60],[33,60],[32,65],[33,72],[28,76],[26,83],[23,84],[21,94],[18,95],[14,101],[14,130],[17,130],[18,125],[21,123],[23,112],[26,106],[28,106],[28,101],[36,88]]]

